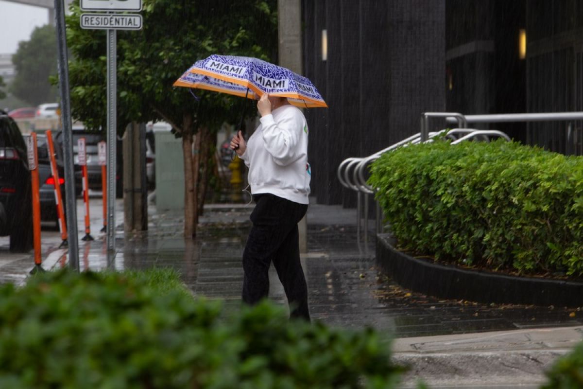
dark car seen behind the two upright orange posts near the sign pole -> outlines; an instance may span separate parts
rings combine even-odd
[[[73,136],[73,159],[75,163],[75,192],[77,195],[82,194],[83,184],[82,184],[82,171],[79,167],[79,157],[77,150],[77,141],[79,138],[85,138],[85,151],[86,151],[86,162],[87,162],[87,178],[89,181],[89,189],[101,190],[101,165],[99,164],[99,150],[97,149],[97,143],[101,141],[106,141],[106,134],[104,131],[89,131],[85,128],[75,128],[72,129]],[[57,131],[55,134],[55,153],[64,160],[63,157],[63,132]],[[123,184],[123,158],[122,158],[122,145],[121,141],[117,141],[117,163],[115,169],[115,197],[122,198],[124,195],[124,184]]]

